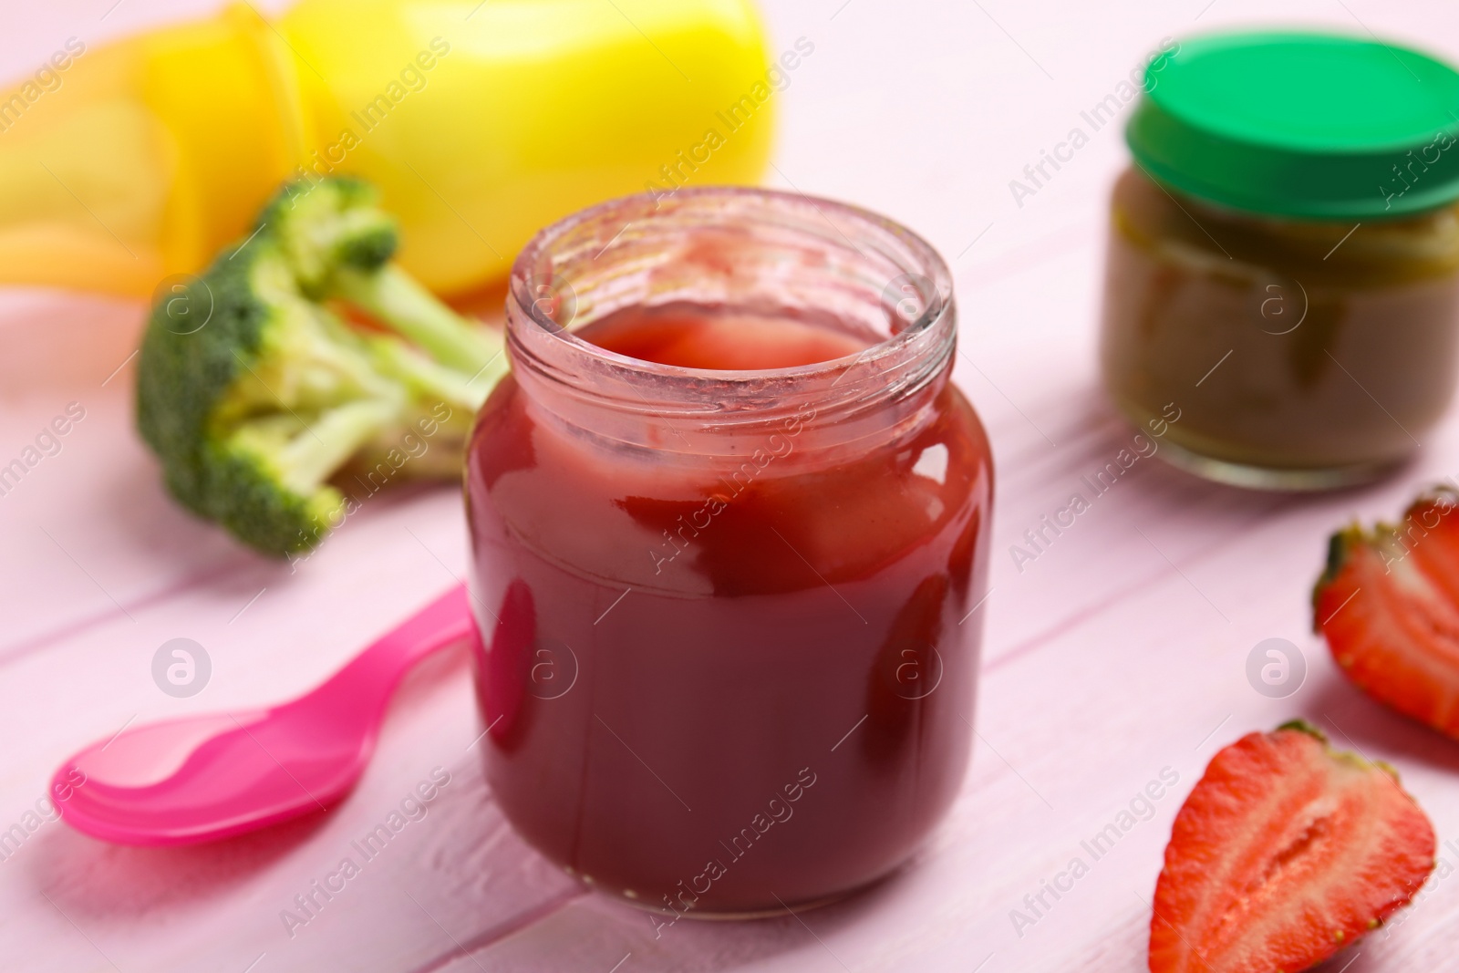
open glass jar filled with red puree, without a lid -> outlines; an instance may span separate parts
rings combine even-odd
[[[690,359],[859,350],[725,371],[584,338],[665,308],[724,325]],[[992,502],[954,340],[941,258],[829,201],[630,197],[522,251],[467,509],[486,773],[541,853],[664,923],[918,848],[967,763]]]

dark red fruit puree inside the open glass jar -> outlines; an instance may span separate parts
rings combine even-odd
[[[575,334],[740,371],[877,340],[689,303]],[[915,850],[967,763],[978,626],[959,621],[985,584],[992,490],[948,371],[880,439],[830,435],[802,403],[693,461],[686,419],[649,449],[500,384],[467,468],[477,691],[495,798],[528,842],[662,910],[659,929],[827,900]]]

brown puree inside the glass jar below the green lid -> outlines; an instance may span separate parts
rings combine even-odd
[[[1236,481],[1322,487],[1402,461],[1455,389],[1459,210],[1355,223],[1228,210],[1128,169],[1100,349],[1116,406],[1144,426],[1176,403],[1186,462]]]

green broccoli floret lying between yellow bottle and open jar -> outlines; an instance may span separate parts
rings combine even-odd
[[[158,302],[142,341],[137,427],[168,490],[266,554],[318,544],[346,511],[331,477],[400,457],[407,433],[433,455],[391,473],[458,474],[506,372],[500,337],[391,263],[375,198],[347,178],[283,187],[252,236]]]

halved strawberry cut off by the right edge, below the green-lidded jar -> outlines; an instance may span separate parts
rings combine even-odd
[[[1459,495],[1420,496],[1399,524],[1332,535],[1313,627],[1358,689],[1459,738]]]

